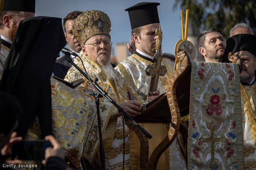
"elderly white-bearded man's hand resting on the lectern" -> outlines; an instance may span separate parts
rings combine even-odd
[[[136,102],[134,100],[127,100],[126,102],[119,105],[124,109],[124,111],[130,115],[130,117],[135,117],[139,114],[139,111],[141,111],[140,107],[141,104],[139,102]],[[121,114],[121,113],[120,113]]]

